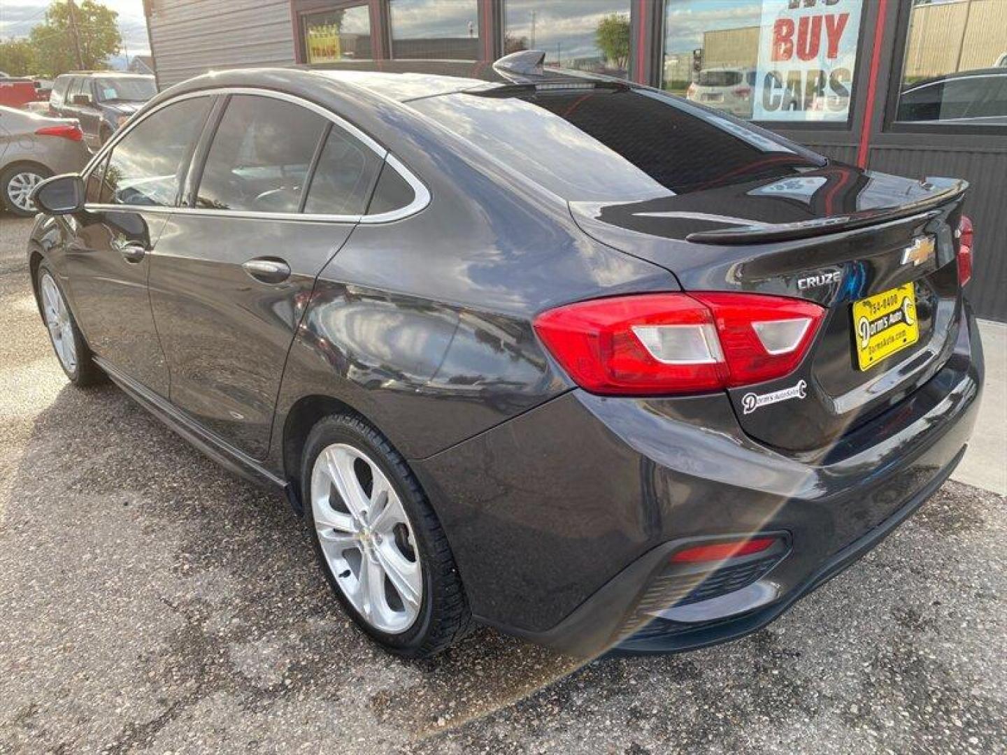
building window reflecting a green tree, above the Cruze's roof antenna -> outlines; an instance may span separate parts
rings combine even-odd
[[[546,65],[627,78],[629,0],[507,0],[503,52],[541,49]]]

